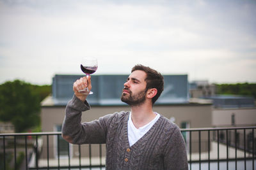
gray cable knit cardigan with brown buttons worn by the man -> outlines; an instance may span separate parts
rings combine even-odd
[[[186,146],[179,127],[162,115],[134,145],[129,146],[129,112],[121,111],[81,123],[90,106],[73,97],[68,102],[62,133],[74,144],[106,143],[106,169],[188,169]]]

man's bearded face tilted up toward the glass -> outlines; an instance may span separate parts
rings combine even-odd
[[[130,106],[139,106],[144,103],[147,94],[146,76],[147,74],[141,70],[136,70],[131,73],[124,83],[124,90],[121,97],[122,102]]]

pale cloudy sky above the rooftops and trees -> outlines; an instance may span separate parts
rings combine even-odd
[[[83,57],[97,57],[95,74],[143,64],[189,81],[254,83],[255,16],[246,0],[0,0],[0,83],[51,84],[82,74]]]

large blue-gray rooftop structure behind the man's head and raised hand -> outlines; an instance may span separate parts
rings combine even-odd
[[[65,106],[72,98],[74,81],[83,75],[56,74],[52,78],[52,96],[42,106]],[[113,106],[126,105],[120,101],[124,83],[129,75],[93,75],[93,95],[87,100],[91,105]],[[156,102],[158,104],[189,103],[188,75],[164,75],[164,91]]]

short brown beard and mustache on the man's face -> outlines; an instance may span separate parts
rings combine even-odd
[[[122,102],[127,103],[130,106],[140,106],[140,104],[143,104],[145,102],[147,90],[142,90],[136,94],[132,94],[132,92],[129,89],[125,90],[128,90],[129,94],[122,93]]]

